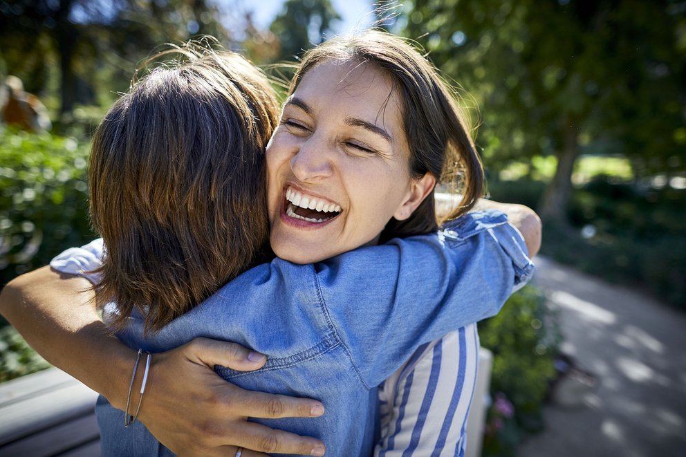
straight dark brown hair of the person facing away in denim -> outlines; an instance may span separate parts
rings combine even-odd
[[[106,256],[96,289],[121,328],[158,330],[257,261],[268,241],[264,149],[279,106],[243,57],[187,44],[133,84],[91,147],[91,220]]]

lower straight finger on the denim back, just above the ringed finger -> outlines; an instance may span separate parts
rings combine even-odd
[[[240,433],[236,444],[252,451],[266,452],[267,454],[323,456],[326,450],[324,443],[315,438],[271,429],[266,425],[254,422],[244,422],[238,430]]]

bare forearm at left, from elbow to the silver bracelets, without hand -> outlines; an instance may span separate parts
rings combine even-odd
[[[123,407],[135,353],[109,335],[90,286],[86,279],[39,268],[3,288],[0,313],[50,364]]]

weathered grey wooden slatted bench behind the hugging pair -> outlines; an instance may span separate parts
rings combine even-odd
[[[467,424],[467,456],[481,455],[492,355],[479,351]],[[98,394],[56,368],[0,384],[0,456],[98,457]]]

